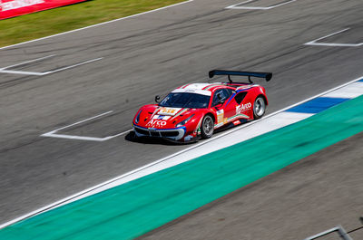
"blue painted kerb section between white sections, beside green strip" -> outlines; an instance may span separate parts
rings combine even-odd
[[[323,110],[327,110],[343,101],[348,101],[349,99],[342,98],[316,98],[307,102],[300,104],[299,106],[290,108],[290,112],[301,112],[301,113],[318,113]]]

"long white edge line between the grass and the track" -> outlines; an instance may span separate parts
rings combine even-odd
[[[160,10],[163,10],[163,9],[167,9],[167,8],[170,8],[170,7],[173,7],[173,6],[191,3],[192,1],[194,1],[194,0],[188,0],[188,1],[185,1],[185,2],[182,2],[182,3],[179,3],[179,4],[175,4],[175,5],[163,6],[163,7],[160,7],[160,8],[157,8],[157,9],[153,9],[153,10],[150,10],[150,11],[147,11],[147,12],[143,12],[143,13],[140,13],[140,14],[133,14],[133,15],[125,16],[125,17],[122,17],[122,18],[118,18],[118,19],[114,19],[114,20],[111,20],[111,21],[103,22],[101,24],[89,25],[89,26],[86,26],[86,27],[74,29],[72,31],[64,32],[64,33],[61,33],[61,34],[54,34],[54,35],[50,35],[50,36],[45,36],[45,37],[42,37],[42,38],[34,39],[34,40],[31,40],[31,41],[26,41],[26,42],[23,42],[23,43],[16,43],[16,44],[13,44],[13,45],[8,45],[8,46],[5,46],[5,47],[1,47],[0,50],[7,49],[7,48],[11,48],[11,47],[15,47],[15,46],[19,46],[19,45],[23,45],[23,44],[26,44],[26,43],[34,43],[34,42],[41,41],[41,40],[44,40],[44,39],[48,39],[48,38],[55,37],[55,36],[60,36],[60,35],[64,35],[64,34],[75,33],[75,32],[78,32],[78,31],[81,31],[81,30],[84,30],[84,29],[92,28],[92,27],[95,27],[95,26],[100,26],[100,25],[103,25],[103,24],[111,24],[113,22],[117,22],[117,21],[121,21],[121,20],[124,20],[124,19],[128,19],[128,18],[140,16],[140,15],[143,15],[143,14],[151,14],[153,12],[157,12],[157,11],[160,11]]]

